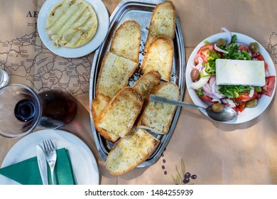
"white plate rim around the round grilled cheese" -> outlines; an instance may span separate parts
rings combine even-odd
[[[48,38],[48,33],[45,31],[46,20],[48,14],[53,9],[53,6],[60,3],[60,0],[47,0],[41,7],[38,14],[38,34],[43,44],[53,53],[64,58],[80,58],[82,56],[92,53],[95,49],[101,45],[104,38],[107,36],[109,29],[109,14],[106,6],[100,0],[85,0],[91,4],[95,13],[97,14],[98,27],[97,32],[89,43],[81,46],[80,48],[65,48],[59,46],[55,48],[52,41]]]

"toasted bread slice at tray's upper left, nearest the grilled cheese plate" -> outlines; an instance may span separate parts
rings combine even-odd
[[[139,45],[141,44],[141,26],[136,21],[125,21],[116,29],[109,51],[126,59],[139,63]]]

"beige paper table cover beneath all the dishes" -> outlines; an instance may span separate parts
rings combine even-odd
[[[112,14],[120,1],[103,2],[109,14]],[[37,14],[43,3],[44,1],[39,0],[1,0],[0,7],[0,68],[9,73],[10,83],[22,82],[37,92],[42,89],[42,82],[37,78],[36,70],[45,70],[39,68],[38,60],[53,54],[45,53],[47,49],[43,49],[45,55],[41,53],[33,58],[31,55],[38,55],[37,49],[28,48],[26,56],[30,55],[30,59],[38,60],[32,65],[35,68],[32,69],[33,72],[25,68],[26,70],[20,73],[21,70],[16,66],[20,65],[22,60],[27,62],[26,56],[23,56],[24,52],[16,55],[18,52],[7,49],[19,38],[30,37],[31,33],[36,33]],[[259,41],[268,50],[276,65],[277,1],[173,0],[173,4],[183,31],[186,60],[200,41],[219,33],[221,27],[226,27],[230,31],[246,34]],[[36,38],[36,45],[39,43],[39,38]],[[41,43],[40,48],[43,48]],[[9,58],[7,63],[4,62],[6,58]],[[76,119],[65,129],[79,136],[92,150],[97,158],[101,184],[182,183],[182,163],[185,172],[196,176],[195,179],[190,178],[190,183],[193,184],[277,184],[277,104],[274,103],[274,98],[264,113],[243,124],[212,122],[197,110],[183,108],[168,146],[153,166],[135,168],[123,176],[111,176],[97,153],[89,120],[89,66],[93,53],[73,60],[58,56],[55,58],[59,60],[58,65],[65,63],[65,68],[70,61],[76,65],[83,62],[80,68],[82,78],[78,76],[82,87],[68,85],[68,82],[63,84],[63,80],[59,79],[62,83],[59,86],[69,88],[67,91],[73,93],[80,102]],[[43,75],[53,73],[44,72]],[[53,78],[51,81],[54,84],[55,77]],[[187,90],[183,101],[192,103]],[[0,137],[0,165],[18,140]]]

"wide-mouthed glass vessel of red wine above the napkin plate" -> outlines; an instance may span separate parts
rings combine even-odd
[[[77,102],[63,90],[34,92],[30,87],[11,84],[0,89],[0,135],[17,138],[35,127],[58,129],[72,122]]]

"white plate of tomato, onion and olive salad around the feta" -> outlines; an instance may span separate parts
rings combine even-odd
[[[185,71],[188,93],[192,102],[201,107],[207,107],[212,103],[221,103],[234,108],[237,112],[237,118],[224,123],[240,124],[249,122],[263,113],[271,103],[276,90],[276,70],[270,55],[259,42],[244,34],[230,32],[227,28],[222,28],[222,31],[222,33],[205,38],[192,51]],[[233,47],[238,51],[237,54],[235,53],[236,56],[238,55],[237,57],[231,56],[231,51],[234,51]],[[228,50],[230,51],[228,52]],[[239,56],[242,56],[242,58]],[[228,85],[228,89],[236,90],[234,95],[232,94],[232,98],[232,96],[229,96],[229,90],[226,89],[225,85],[217,85],[217,81],[215,81],[216,70],[212,71],[211,67],[212,61],[207,64],[210,60],[216,60],[217,58],[264,60],[265,85],[258,87],[241,86],[242,88]],[[233,75],[241,76],[241,74],[234,73]],[[237,91],[239,89],[241,89],[241,92]],[[233,93],[233,90],[230,92]],[[255,102],[254,105],[253,102]]]

